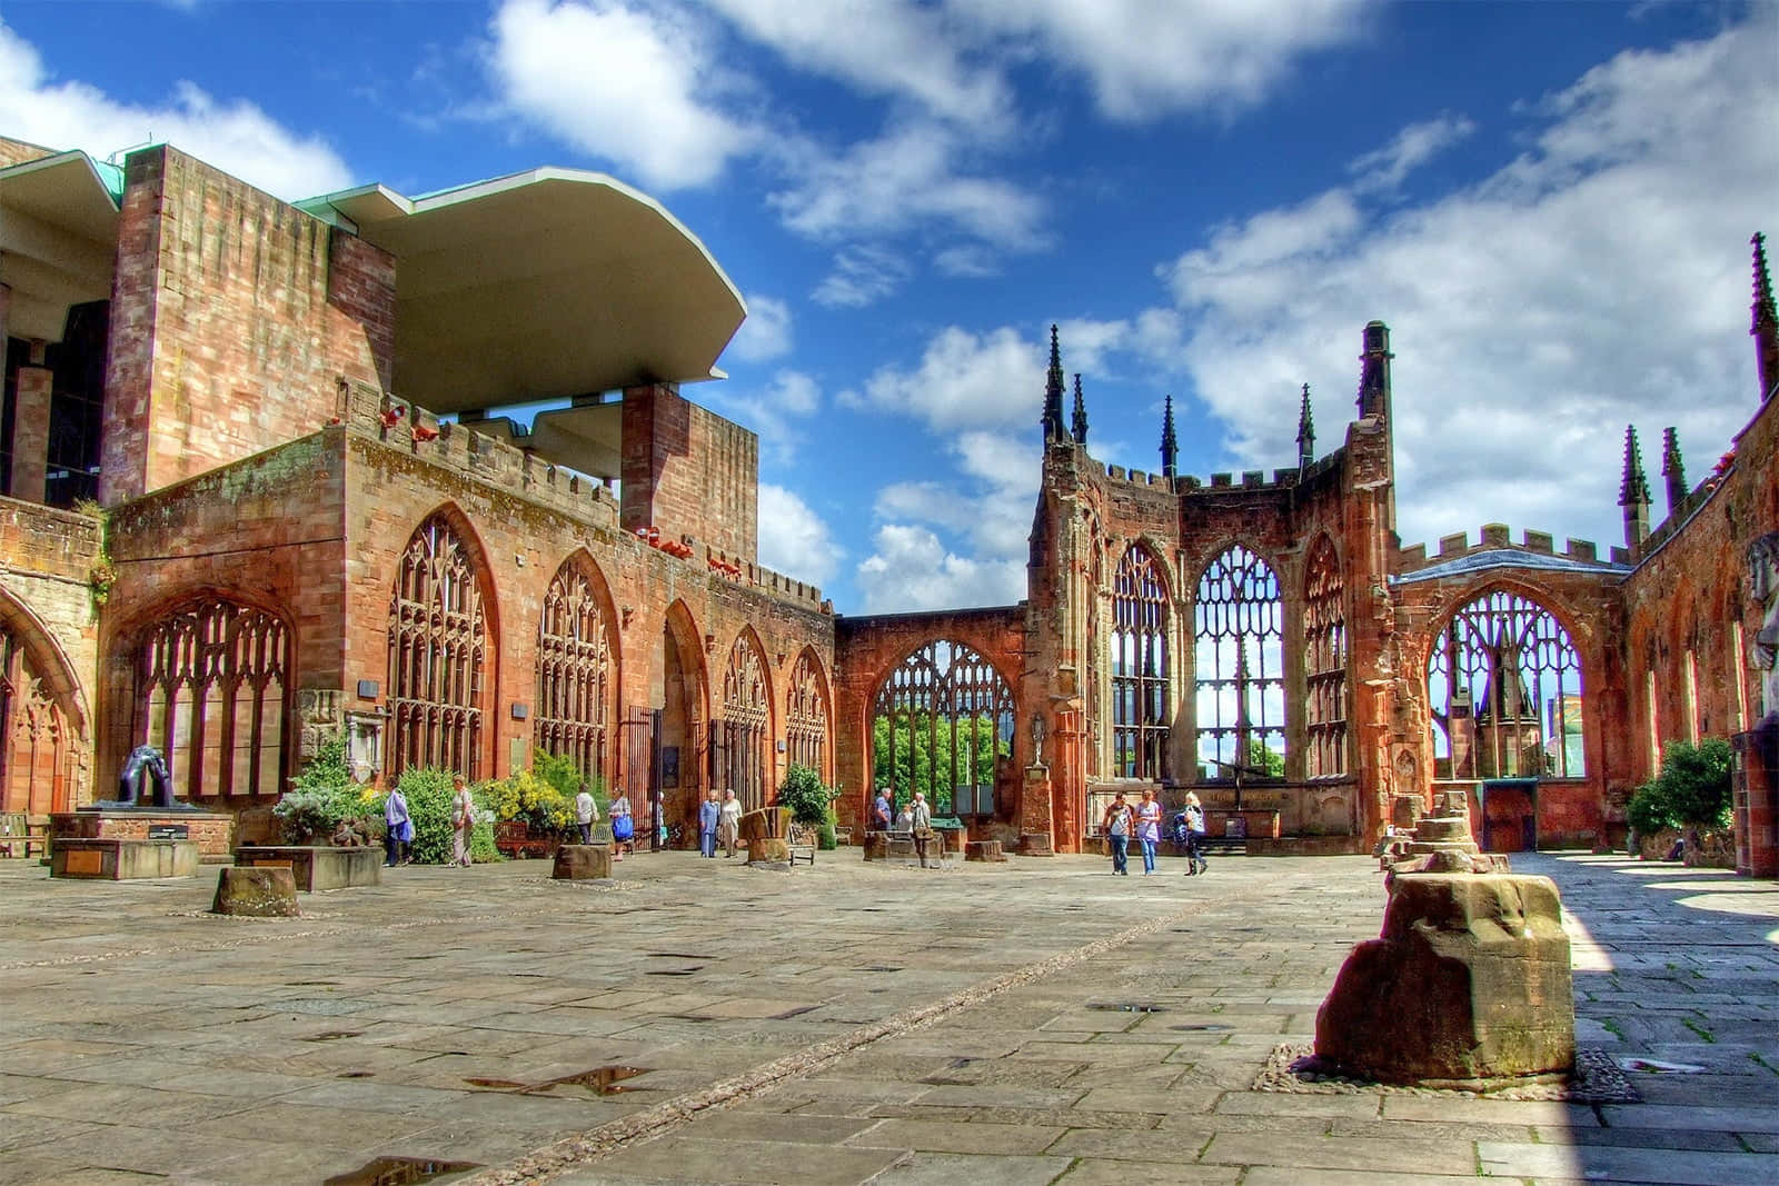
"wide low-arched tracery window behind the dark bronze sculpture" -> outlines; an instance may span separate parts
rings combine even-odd
[[[187,603],[148,628],[132,743],[167,757],[173,793],[285,789],[290,631],[221,597]]]

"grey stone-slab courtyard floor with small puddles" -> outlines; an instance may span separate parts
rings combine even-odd
[[[208,918],[213,869],[4,861],[0,1181],[1779,1181],[1779,885],[1516,869],[1562,885],[1578,1038],[1646,1060],[1642,1102],[1252,1090],[1377,934],[1359,857],[519,861],[279,921]]]

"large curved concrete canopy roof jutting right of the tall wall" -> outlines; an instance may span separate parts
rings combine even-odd
[[[747,306],[704,244],[600,172],[299,203],[395,256],[395,379],[438,413],[720,379]]]

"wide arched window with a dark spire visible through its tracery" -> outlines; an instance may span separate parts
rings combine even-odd
[[[1550,610],[1501,589],[1466,603],[1427,658],[1436,779],[1578,779],[1582,660]]]

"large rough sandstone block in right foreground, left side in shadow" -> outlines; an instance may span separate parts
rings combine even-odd
[[[1354,948],[1316,1014],[1316,1054],[1381,1083],[1569,1070],[1574,996],[1555,882],[1397,877],[1382,937]]]

